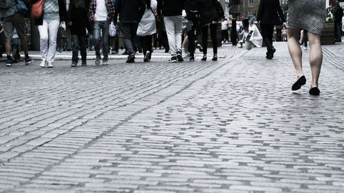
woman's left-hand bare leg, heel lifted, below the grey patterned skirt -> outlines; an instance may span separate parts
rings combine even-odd
[[[288,49],[292,57],[292,63],[297,70],[297,79],[303,76],[302,70],[302,51],[297,38],[299,36],[299,29],[288,29]]]

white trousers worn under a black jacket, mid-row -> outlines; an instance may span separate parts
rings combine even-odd
[[[169,39],[170,53],[177,55],[177,51],[182,51],[182,16],[164,16],[164,23]]]

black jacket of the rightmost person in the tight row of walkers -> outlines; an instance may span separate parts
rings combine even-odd
[[[213,21],[224,19],[224,10],[217,0],[197,0],[197,8],[200,12],[200,24],[205,25]]]

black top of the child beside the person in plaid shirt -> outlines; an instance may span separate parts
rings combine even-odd
[[[89,28],[89,21],[87,11],[85,8],[76,8],[69,4],[69,10],[67,12],[67,23],[72,22],[70,26],[70,32],[77,35],[86,35],[86,28]]]

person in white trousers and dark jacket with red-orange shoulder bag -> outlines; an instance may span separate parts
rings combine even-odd
[[[32,0],[32,4],[36,1],[38,0]],[[63,0],[44,0],[43,14],[39,19],[34,20],[34,24],[39,28],[41,67],[54,67],[58,27],[60,21],[65,21],[66,16]]]

